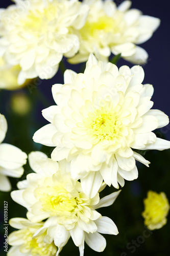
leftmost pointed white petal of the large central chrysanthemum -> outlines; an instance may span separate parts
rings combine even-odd
[[[54,124],[49,123],[41,127],[33,136],[33,140],[45,146],[56,146],[52,142],[53,135],[57,132]]]

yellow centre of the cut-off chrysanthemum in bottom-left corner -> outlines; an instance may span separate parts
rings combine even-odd
[[[45,233],[41,234],[38,238],[33,239],[34,232],[29,229],[23,229],[20,232],[23,233],[24,244],[20,246],[20,252],[26,253],[29,251],[32,256],[51,256],[57,252],[57,248],[54,243],[47,244],[43,242]]]

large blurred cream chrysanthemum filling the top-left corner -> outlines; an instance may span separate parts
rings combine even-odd
[[[87,12],[78,0],[15,0],[1,10],[0,55],[10,65],[20,65],[19,84],[26,78],[53,77],[63,55],[75,55],[79,38],[72,30],[83,27]]]

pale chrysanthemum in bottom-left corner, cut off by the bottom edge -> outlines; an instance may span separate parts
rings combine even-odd
[[[9,224],[19,230],[9,234],[8,243],[12,245],[12,247],[7,252],[7,256],[56,255],[57,247],[53,241],[50,243],[46,241],[48,236],[45,229],[37,238],[33,238],[35,232],[43,228],[43,222],[34,223],[25,218],[13,218],[9,221]]]

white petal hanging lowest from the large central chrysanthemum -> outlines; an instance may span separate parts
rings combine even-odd
[[[102,182],[103,178],[99,171],[90,172],[85,178],[81,179],[84,194],[89,198],[93,198],[98,193]]]

